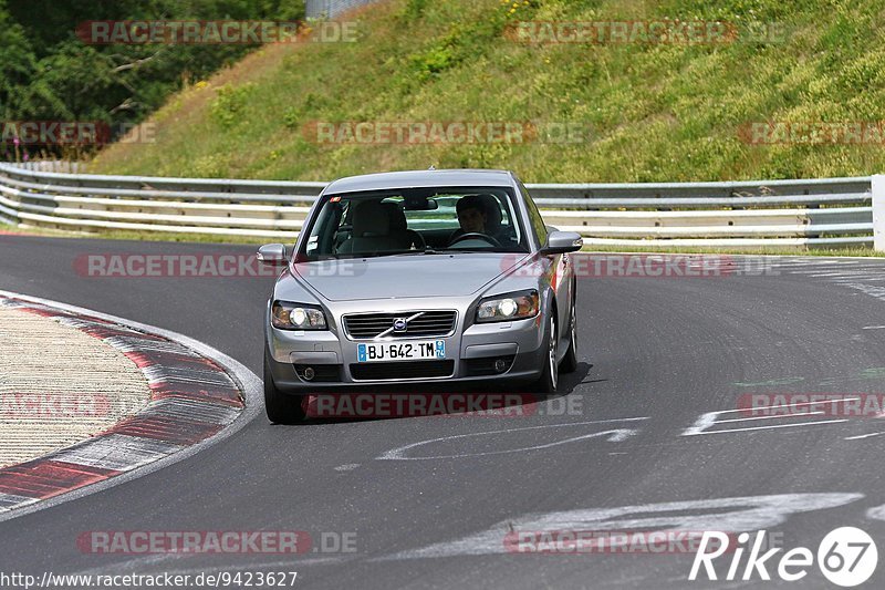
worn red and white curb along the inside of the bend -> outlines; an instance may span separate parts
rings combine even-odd
[[[98,491],[181,460],[233,434],[257,414],[260,380],[237,361],[200,342],[15,293],[0,291],[0,306],[54,318],[101,339],[129,358],[150,387],[150,402],[108,431],[0,469],[0,520]]]

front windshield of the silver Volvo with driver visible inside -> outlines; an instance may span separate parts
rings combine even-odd
[[[525,252],[506,187],[408,188],[326,195],[308,229],[306,260],[437,252]]]

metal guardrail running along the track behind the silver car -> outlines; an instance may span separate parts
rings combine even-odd
[[[35,166],[37,167],[37,166]],[[589,245],[873,242],[872,177],[528,185],[546,222]],[[325,183],[62,174],[0,164],[0,221],[292,239]]]

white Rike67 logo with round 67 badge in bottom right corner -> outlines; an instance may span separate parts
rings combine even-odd
[[[815,563],[815,555],[811,549],[796,547],[783,555],[782,547],[764,552],[766,532],[760,530],[750,541],[749,532],[741,532],[737,538],[737,547],[731,547],[729,538],[733,536],[718,531],[705,531],[700,540],[695,561],[688,579],[691,581],[706,578],[708,580],[771,580],[771,569],[787,582],[804,579]],[[712,548],[712,550],[710,550]],[[746,562],[743,556],[749,551]],[[725,577],[717,570],[717,558],[728,555],[730,563]],[[726,558],[723,561],[728,561]],[[876,570],[878,549],[873,538],[855,527],[841,527],[830,531],[818,546],[816,566],[821,573],[836,586],[852,588],[867,581]],[[722,563],[725,565],[725,563]]]

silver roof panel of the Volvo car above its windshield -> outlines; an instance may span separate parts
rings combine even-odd
[[[408,170],[365,174],[340,178],[325,187],[324,194],[384,190],[389,188],[424,188],[435,186],[512,186],[508,170]]]

